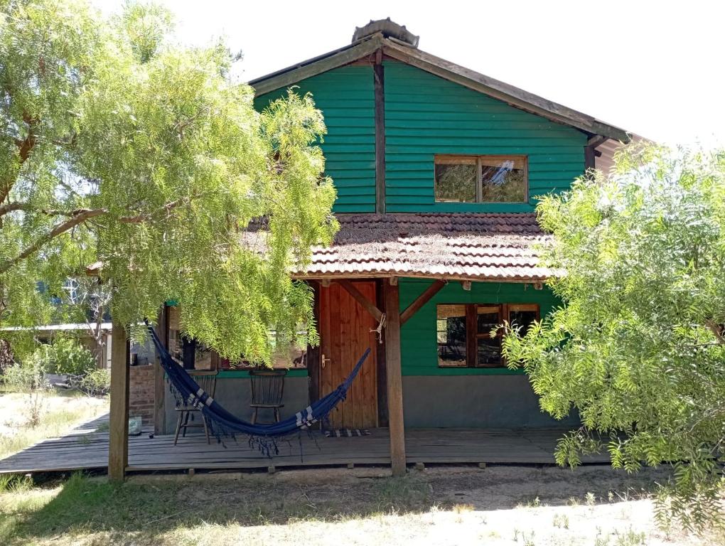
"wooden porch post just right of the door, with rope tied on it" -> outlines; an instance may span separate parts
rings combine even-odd
[[[393,476],[405,474],[405,425],[403,423],[403,382],[400,371],[400,299],[398,286],[389,279],[385,295],[385,364],[388,384],[388,427],[390,462]]]

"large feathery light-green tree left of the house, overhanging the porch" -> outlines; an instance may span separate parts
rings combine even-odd
[[[153,5],[0,6],[0,326],[47,320],[47,294],[94,262],[115,320],[173,299],[231,359],[268,361],[270,328],[312,324],[289,270],[336,228],[312,99],[255,112],[228,49],[175,44]]]

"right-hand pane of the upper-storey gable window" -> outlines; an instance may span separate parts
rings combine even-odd
[[[526,160],[523,157],[481,157],[483,202],[526,201]]]

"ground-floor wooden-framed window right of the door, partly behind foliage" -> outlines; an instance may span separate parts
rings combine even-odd
[[[502,368],[502,330],[505,320],[526,333],[539,320],[535,303],[447,304],[436,306],[436,341],[441,368]]]

